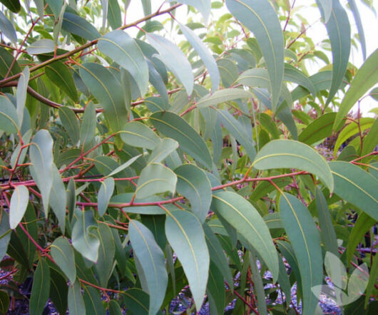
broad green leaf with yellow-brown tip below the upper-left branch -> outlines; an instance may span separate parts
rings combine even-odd
[[[105,110],[109,128],[113,132],[121,130],[128,120],[128,110],[119,81],[111,71],[98,63],[84,63],[80,68],[80,76]]]

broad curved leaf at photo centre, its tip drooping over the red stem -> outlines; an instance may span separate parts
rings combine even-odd
[[[174,170],[178,177],[177,192],[188,198],[191,211],[201,223],[205,222],[211,204],[211,185],[205,172],[193,164],[181,165]]]

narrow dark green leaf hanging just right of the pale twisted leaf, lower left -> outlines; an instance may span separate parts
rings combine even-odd
[[[108,225],[99,223],[98,229],[94,230],[93,234],[100,240],[95,269],[100,286],[106,288],[108,286],[108,280],[111,277],[114,255],[116,254],[113,233]]]

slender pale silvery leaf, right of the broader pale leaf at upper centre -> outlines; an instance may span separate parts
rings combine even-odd
[[[202,1],[196,2],[202,3]],[[208,4],[210,4],[210,1],[208,1]],[[220,73],[213,55],[210,53],[203,41],[201,41],[200,38],[191,29],[183,24],[178,25],[180,26],[180,30],[185,35],[186,39],[188,39],[190,45],[192,45],[193,48],[195,48],[195,51],[197,51],[198,56],[200,56],[206,68],[208,68],[212,89],[213,91],[216,91],[219,86]]]

